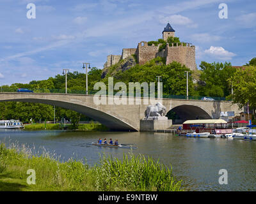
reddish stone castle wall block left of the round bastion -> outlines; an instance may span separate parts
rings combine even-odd
[[[141,41],[137,47],[137,60],[138,64],[145,64],[147,61],[156,58],[159,46],[148,46],[147,41]]]

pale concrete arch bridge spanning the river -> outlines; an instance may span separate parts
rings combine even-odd
[[[94,98],[94,99],[93,99]],[[101,96],[106,101],[118,99],[116,96]],[[141,103],[136,101],[141,99]],[[140,120],[145,117],[148,104],[143,100],[148,98],[127,98],[127,105],[97,104],[94,95],[84,94],[52,94],[52,93],[0,93],[2,101],[20,101],[30,103],[44,103],[74,110],[91,117],[115,131],[140,131]],[[221,112],[234,111],[237,115],[241,110],[231,101],[202,101],[186,99],[161,99],[167,112],[172,110],[182,121],[188,119],[218,119]],[[132,101],[133,104],[132,105]],[[155,101],[156,104],[157,100]]]

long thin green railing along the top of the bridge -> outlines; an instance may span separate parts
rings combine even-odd
[[[58,94],[65,94],[65,89],[29,89],[33,92],[38,92],[38,93],[58,93]],[[17,89],[13,88],[13,87],[1,87],[0,92],[17,92]],[[94,95],[97,94],[97,92],[99,91],[88,91],[88,94],[90,95]],[[115,94],[118,91],[114,91],[113,94],[115,96]],[[67,93],[68,94],[86,94],[85,90],[70,90],[67,89]],[[106,91],[106,95],[108,96],[108,91]],[[127,96],[129,96],[129,93],[127,93]],[[134,97],[135,97],[135,93],[134,93]],[[141,94],[141,96],[143,96],[143,94]],[[157,98],[157,93],[155,94],[155,98]],[[187,99],[187,96],[178,96],[178,95],[171,95],[171,94],[163,94],[163,98],[170,98],[170,99]],[[189,100],[201,100],[202,98],[204,98],[204,96],[189,96],[188,99]],[[228,98],[225,97],[211,97],[213,98],[215,101],[231,101]]]

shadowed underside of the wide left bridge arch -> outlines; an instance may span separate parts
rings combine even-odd
[[[28,103],[43,103],[47,105],[55,105],[61,108],[66,108],[69,110],[74,110],[75,112],[82,113],[94,120],[99,121],[101,124],[104,124],[112,131],[138,131],[138,129],[134,128],[128,122],[125,122],[122,119],[116,117],[116,115],[112,115],[111,113],[104,112],[95,107],[89,105],[79,105],[75,101],[79,101],[73,99],[74,103],[70,103],[70,101],[58,101],[56,99],[42,99],[42,98],[33,98],[28,97],[28,94],[23,94],[24,98],[10,98],[4,99],[0,98],[0,102],[4,101],[19,101],[19,102],[28,102]]]

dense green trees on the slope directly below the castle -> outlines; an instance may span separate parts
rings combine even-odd
[[[136,64],[136,66],[126,71],[116,73],[114,82],[122,81],[129,87],[129,82],[139,82],[140,84],[147,82],[149,84],[150,82],[156,82],[156,76],[162,76],[163,94],[186,95],[186,76],[184,71],[189,71],[189,69],[179,62],[165,65],[163,58],[156,57],[143,65]],[[191,90],[191,94],[195,92],[193,91],[191,77],[189,77],[189,90]]]

